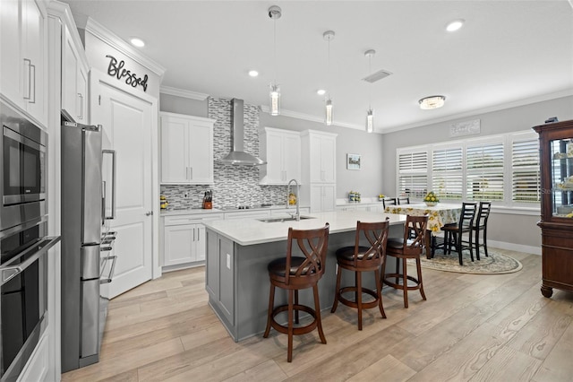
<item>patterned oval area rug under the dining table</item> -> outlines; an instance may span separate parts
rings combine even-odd
[[[478,261],[475,258],[474,253],[475,261],[472,262],[469,256],[469,251],[464,251],[462,257],[464,265],[459,265],[457,252],[453,252],[450,255],[444,255],[441,251],[438,251],[433,258],[428,259],[423,255],[421,260],[423,268],[457,273],[513,273],[519,271],[523,266],[515,258],[500,254],[493,250],[488,250],[488,255],[489,257],[486,257],[482,252],[482,254],[480,254],[480,260]]]

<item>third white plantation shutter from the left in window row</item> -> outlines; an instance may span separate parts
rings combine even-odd
[[[503,200],[503,143],[467,145],[466,198]]]

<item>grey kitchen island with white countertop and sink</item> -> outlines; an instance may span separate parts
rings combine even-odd
[[[209,304],[236,342],[264,332],[270,289],[267,265],[278,257],[286,256],[288,227],[311,230],[329,222],[326,271],[319,282],[321,310],[325,310],[331,308],[334,302],[336,250],[338,247],[354,246],[356,221],[383,221],[389,217],[389,235],[395,237],[403,235],[406,221],[406,215],[363,211],[306,213],[304,217],[310,219],[276,222],[256,219],[205,221],[206,289]],[[367,244],[361,242],[361,245]],[[394,263],[389,266],[394,266]],[[373,288],[373,274],[364,274],[363,277],[364,286]],[[354,282],[354,275],[345,274],[343,286],[344,282]],[[312,289],[301,291],[300,301],[312,306]],[[286,293],[277,291],[275,306],[285,303]]]

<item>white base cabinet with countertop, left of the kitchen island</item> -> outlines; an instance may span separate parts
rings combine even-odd
[[[166,216],[163,224],[163,266],[192,265],[205,261],[206,237],[202,221],[218,219],[223,219],[223,213]]]

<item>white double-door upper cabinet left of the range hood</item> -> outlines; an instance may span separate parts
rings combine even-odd
[[[161,183],[212,184],[215,120],[167,112],[160,117]]]

